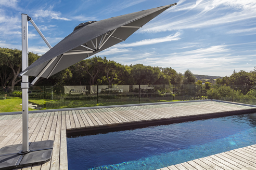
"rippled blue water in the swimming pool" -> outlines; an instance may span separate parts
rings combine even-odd
[[[158,169],[256,144],[256,113],[67,138],[69,169]]]

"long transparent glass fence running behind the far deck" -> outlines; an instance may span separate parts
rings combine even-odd
[[[112,86],[34,86],[29,89],[30,110],[89,106],[124,105],[214,99],[256,105],[256,86],[221,86],[209,84],[112,85]],[[20,87],[0,87],[3,105],[16,100],[20,104]],[[6,106],[7,107],[7,106]],[[0,111],[1,112],[1,111]]]

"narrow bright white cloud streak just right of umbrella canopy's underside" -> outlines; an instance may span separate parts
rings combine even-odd
[[[161,37],[161,38],[153,38],[153,39],[144,39],[141,41],[137,41],[135,43],[130,43],[130,44],[118,44],[114,47],[118,48],[125,48],[125,47],[137,47],[137,46],[144,46],[144,45],[151,45],[151,44],[157,44],[157,43],[163,43],[167,41],[175,41],[181,39],[180,36],[181,32],[177,32],[176,34],[171,34],[166,37]]]

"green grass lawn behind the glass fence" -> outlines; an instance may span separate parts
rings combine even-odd
[[[174,100],[178,101],[178,100]],[[174,102],[172,100],[148,100],[147,98],[140,103],[155,103],[155,102]],[[0,100],[0,112],[22,111],[22,99],[20,97],[7,97],[5,100]],[[109,105],[125,105],[138,104],[138,100],[122,101],[122,100],[100,100],[97,104],[96,100],[44,100],[44,99],[29,99],[29,103],[41,106],[41,110],[45,109],[60,109],[60,108],[75,108],[75,107],[92,107],[92,106],[109,106]],[[29,110],[35,110],[29,108]]]

